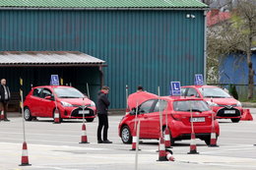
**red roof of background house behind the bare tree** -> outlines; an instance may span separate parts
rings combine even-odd
[[[231,14],[229,12],[220,12],[219,10],[211,10],[207,13],[207,26],[212,27],[218,23],[224,22],[230,19]]]

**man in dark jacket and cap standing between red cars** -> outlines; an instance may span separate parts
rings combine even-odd
[[[108,130],[108,117],[107,109],[110,105],[110,102],[107,98],[109,91],[108,86],[102,86],[101,90],[97,95],[96,110],[98,117],[98,126],[97,126],[97,143],[112,143],[107,140],[107,130]],[[103,128],[104,127],[104,128]],[[103,141],[101,139],[101,131],[103,128]]]

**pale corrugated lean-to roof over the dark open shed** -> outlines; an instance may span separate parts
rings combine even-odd
[[[77,51],[1,51],[0,67],[100,66],[104,61]]]

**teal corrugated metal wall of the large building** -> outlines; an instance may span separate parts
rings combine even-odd
[[[186,18],[193,14],[195,19]],[[0,51],[81,51],[106,61],[112,108],[125,85],[168,95],[204,73],[203,11],[0,11]],[[96,94],[95,94],[96,95]]]

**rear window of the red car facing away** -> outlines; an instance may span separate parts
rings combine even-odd
[[[211,110],[207,103],[203,100],[185,100],[185,101],[174,101],[173,109],[175,111],[184,112],[204,112]]]

